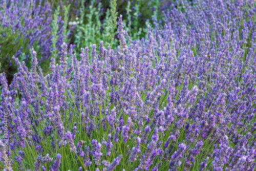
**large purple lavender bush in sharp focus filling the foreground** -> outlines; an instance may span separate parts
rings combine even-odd
[[[1,168],[255,170],[255,3],[184,4],[130,45],[121,15],[116,49],[100,42],[77,60],[63,43],[46,76],[34,49],[31,71],[13,57],[10,86],[0,75]]]

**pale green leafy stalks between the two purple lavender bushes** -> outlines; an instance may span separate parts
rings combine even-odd
[[[84,0],[81,2],[80,19],[76,22],[74,40],[71,41],[76,45],[76,52],[79,52],[80,48],[99,44],[100,41],[103,41],[106,46],[117,47],[119,41],[117,41],[116,30],[120,14],[124,16],[124,25],[131,40],[145,37],[145,24],[147,20],[157,18],[159,12],[157,9],[160,6],[159,1],[145,0],[127,2],[111,0],[109,3],[103,1],[102,4],[93,0],[90,1],[89,6],[84,6],[85,3],[89,2]],[[154,13],[149,7],[155,9]]]

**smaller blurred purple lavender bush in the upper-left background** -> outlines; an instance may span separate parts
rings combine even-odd
[[[29,50],[32,47],[37,50],[38,62],[49,65],[48,59],[57,55],[55,52],[63,41],[68,41],[69,31],[63,24],[65,19],[59,16],[57,9],[53,12],[47,2],[1,1],[0,71],[6,72],[8,79],[13,77],[16,66],[12,55],[30,65]]]

